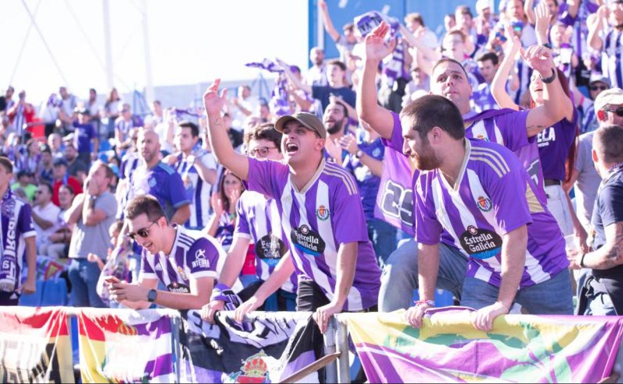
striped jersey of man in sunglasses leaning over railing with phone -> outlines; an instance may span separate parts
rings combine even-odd
[[[153,255],[143,248],[138,279],[158,279],[169,292],[190,293],[191,278],[218,278],[219,260],[226,255],[211,236],[179,225],[174,228],[177,233],[170,255]]]

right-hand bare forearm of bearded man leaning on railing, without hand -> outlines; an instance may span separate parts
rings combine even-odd
[[[526,248],[528,246],[528,227],[517,228],[506,233],[502,238],[502,282],[498,292],[498,301],[506,309],[510,309],[515,300],[515,295],[523,269],[526,265]]]

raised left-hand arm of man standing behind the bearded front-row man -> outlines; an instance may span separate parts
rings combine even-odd
[[[359,119],[370,124],[372,129],[385,139],[391,138],[392,130],[394,129],[394,118],[389,110],[377,103],[376,70],[379,67],[379,62],[396,47],[396,39],[392,39],[389,44],[384,42],[384,36],[388,31],[388,24],[381,22],[380,26],[366,36],[366,56],[357,90]]]

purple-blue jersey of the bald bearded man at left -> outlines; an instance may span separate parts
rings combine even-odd
[[[190,203],[184,193],[184,184],[175,170],[158,162],[156,166],[149,169],[145,164],[141,164],[130,177],[130,192],[128,201],[135,196],[150,194],[158,199],[164,209],[166,217],[171,220],[175,211]]]

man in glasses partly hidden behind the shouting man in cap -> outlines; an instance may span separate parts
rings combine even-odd
[[[249,148],[249,156],[254,159],[273,161],[283,160],[281,153],[282,134],[275,130],[271,123],[255,126],[244,136],[245,144]],[[212,294],[209,305],[204,306],[202,316],[213,321],[214,314],[222,311],[226,305],[227,296],[222,291],[231,289],[242,270],[249,244],[254,245],[255,271],[258,281],[240,291],[242,301],[246,301],[254,294],[262,295],[260,286],[270,274],[275,271],[277,263],[288,255],[288,240],[281,227],[281,217],[277,202],[265,195],[245,190],[236,204],[236,225],[234,241],[229,247],[227,260],[224,264],[217,290]],[[266,287],[264,287],[266,288]],[[285,284],[275,294],[266,295],[264,305],[258,307],[260,311],[293,311],[295,307],[297,280],[295,274],[290,274]],[[221,296],[221,297],[217,297]]]

